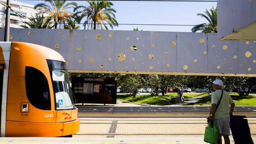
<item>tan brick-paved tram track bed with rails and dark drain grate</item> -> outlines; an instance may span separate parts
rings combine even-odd
[[[256,137],[256,118],[248,118],[251,135]],[[206,118],[81,118],[75,137],[173,138],[203,137]]]

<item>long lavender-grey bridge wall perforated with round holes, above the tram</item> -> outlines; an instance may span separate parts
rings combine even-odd
[[[256,76],[256,41],[217,33],[10,28],[10,41],[54,49],[69,72]]]

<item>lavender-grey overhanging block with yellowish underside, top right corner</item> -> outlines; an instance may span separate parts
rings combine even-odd
[[[256,40],[256,1],[217,1],[220,40]]]

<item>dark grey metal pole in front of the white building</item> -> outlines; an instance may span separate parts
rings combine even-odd
[[[6,1],[6,17],[4,28],[4,41],[9,42],[10,39],[10,0]]]

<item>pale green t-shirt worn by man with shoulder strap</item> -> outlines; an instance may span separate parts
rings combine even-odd
[[[218,104],[218,101],[220,98],[221,98],[221,90],[216,90],[211,95],[211,104]],[[215,113],[214,119],[230,117],[229,105],[232,103],[233,103],[233,100],[230,97],[229,93],[227,93],[225,90],[223,90],[223,96],[222,96],[221,102],[217,108],[217,111]]]

